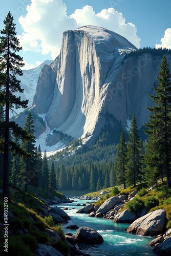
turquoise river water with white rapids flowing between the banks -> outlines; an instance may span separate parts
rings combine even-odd
[[[77,230],[66,229],[68,225],[76,224],[78,227],[87,226],[95,229],[101,234],[104,242],[98,245],[77,244],[77,248],[89,253],[91,256],[121,256],[121,255],[155,255],[152,251],[153,247],[148,243],[152,238],[137,236],[136,234],[127,233],[125,228],[129,224],[114,223],[112,220],[88,217],[87,214],[76,214],[77,209],[82,206],[75,204],[86,203],[86,200],[75,200],[77,202],[57,204],[58,207],[68,207],[65,210],[71,220],[67,224],[63,224],[65,233],[76,233]],[[90,200],[89,200],[90,202]],[[54,205],[53,205],[54,206]],[[75,209],[72,209],[75,208]]]

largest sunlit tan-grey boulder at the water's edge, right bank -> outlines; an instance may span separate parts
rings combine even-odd
[[[155,210],[135,220],[127,232],[136,233],[141,236],[157,236],[165,227],[165,210]]]

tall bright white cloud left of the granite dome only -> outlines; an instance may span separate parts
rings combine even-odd
[[[27,15],[19,17],[19,23],[24,30],[18,36],[23,50],[51,53],[53,59],[60,51],[62,33],[76,27],[62,0],[32,0]]]

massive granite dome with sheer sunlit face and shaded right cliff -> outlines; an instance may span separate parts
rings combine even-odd
[[[92,144],[105,124],[106,111],[125,130],[133,113],[139,127],[147,122],[146,106],[152,105],[149,93],[153,94],[162,56],[145,53],[123,60],[135,49],[124,37],[99,27],[64,32],[60,54],[42,69],[33,100],[33,111],[45,114],[46,136],[53,129],[74,139],[89,132],[87,143]],[[41,140],[37,143],[44,150]]]

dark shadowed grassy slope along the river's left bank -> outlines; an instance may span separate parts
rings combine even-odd
[[[2,183],[0,183],[2,187]],[[2,193],[1,193],[2,198]],[[8,216],[8,254],[30,256],[38,243],[50,244],[59,250],[63,255],[67,255],[69,247],[65,241],[62,226],[54,226],[50,218],[43,218],[42,213],[46,208],[45,203],[39,199],[52,199],[54,196],[65,198],[61,193],[46,189],[30,187],[30,192],[26,193],[17,186],[10,185],[11,203],[8,203],[8,210],[13,217]],[[3,230],[4,200],[0,200],[1,229]],[[48,235],[47,228],[56,231],[60,240],[56,240]],[[4,255],[5,237],[3,231],[0,232],[0,254]]]

